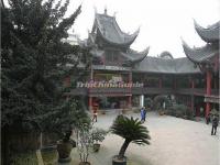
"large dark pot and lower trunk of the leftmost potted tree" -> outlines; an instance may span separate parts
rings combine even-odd
[[[76,142],[70,140],[72,131],[67,131],[63,140],[57,141],[58,162],[68,163],[72,161],[70,152],[76,147]]]

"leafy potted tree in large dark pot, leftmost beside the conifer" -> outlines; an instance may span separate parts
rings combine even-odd
[[[81,123],[90,124],[90,118],[86,113],[86,110],[81,107],[78,100],[70,98],[66,101],[66,105],[61,109],[61,118],[54,120],[54,130],[62,135],[62,140],[57,141],[58,162],[70,162],[70,152],[73,147],[76,147],[76,142],[70,139],[77,136],[76,129],[80,128]],[[63,113],[68,113],[66,118],[62,118]],[[76,138],[75,138],[76,139]]]

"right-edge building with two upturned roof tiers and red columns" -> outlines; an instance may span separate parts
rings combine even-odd
[[[183,47],[186,56],[199,67],[205,76],[206,117],[215,103],[219,103],[219,31],[220,22],[205,29],[195,22],[195,29],[206,42],[202,47],[190,48],[185,42]]]

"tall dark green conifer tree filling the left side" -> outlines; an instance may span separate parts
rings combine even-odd
[[[64,18],[68,4],[69,0],[9,0],[9,8],[1,7],[4,133],[61,131],[63,125],[86,117],[77,99],[64,97],[64,78],[73,75],[76,81],[84,77],[90,61],[89,50],[62,42],[81,11],[79,6]]]

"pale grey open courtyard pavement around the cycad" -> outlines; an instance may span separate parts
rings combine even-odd
[[[139,113],[127,116],[140,118]],[[95,127],[107,130],[116,117],[99,116]],[[144,125],[150,131],[151,145],[131,143],[125,152],[128,165],[220,165],[220,133],[211,135],[211,124],[148,112]],[[118,154],[122,143],[122,138],[108,134],[100,151],[89,155],[89,162],[91,165],[111,165],[111,157]],[[73,165],[78,164],[76,148],[72,157]]]

